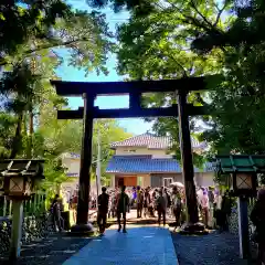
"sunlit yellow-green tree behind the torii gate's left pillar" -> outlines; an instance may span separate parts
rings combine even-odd
[[[54,95],[56,96],[56,95]],[[75,152],[81,153],[83,123],[82,120],[59,120],[54,100],[42,106],[38,129],[34,132],[34,157],[45,158],[45,181],[44,189],[56,192],[59,184],[64,182],[67,169],[62,165],[62,153]],[[57,107],[61,107],[59,103]],[[108,180],[106,167],[114,151],[110,149],[113,141],[124,140],[131,135],[119,127],[118,123],[113,119],[99,119],[94,121],[93,131],[93,165],[92,179],[96,177],[96,160],[98,150],[98,131],[100,134],[100,166],[102,180]]]

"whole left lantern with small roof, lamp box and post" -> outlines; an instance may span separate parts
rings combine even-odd
[[[10,257],[20,256],[23,222],[23,201],[36,191],[44,179],[43,162],[40,159],[6,159],[0,161],[0,192],[12,200],[12,233]]]

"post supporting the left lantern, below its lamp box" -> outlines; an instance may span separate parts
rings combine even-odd
[[[12,215],[12,232],[11,232],[11,245],[10,245],[10,258],[17,259],[20,256],[21,251],[21,235],[23,223],[23,201],[13,200],[13,215]]]

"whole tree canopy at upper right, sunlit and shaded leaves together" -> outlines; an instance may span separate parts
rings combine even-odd
[[[213,91],[189,97],[211,104],[212,115],[202,117],[204,129],[197,134],[211,145],[208,155],[264,152],[264,1],[93,2],[130,11],[118,28],[119,73],[132,80],[221,74]],[[170,105],[174,97],[149,95],[145,104]],[[176,121],[159,118],[153,128],[178,140]],[[191,119],[193,132],[197,125]]]

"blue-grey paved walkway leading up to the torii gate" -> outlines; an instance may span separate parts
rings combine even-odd
[[[128,233],[106,231],[63,265],[178,265],[169,230],[129,227]]]

